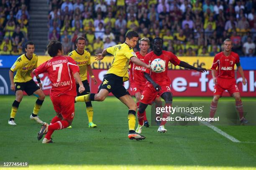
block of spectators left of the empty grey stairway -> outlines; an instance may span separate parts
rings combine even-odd
[[[2,0],[0,55],[20,55],[28,39],[29,0]]]

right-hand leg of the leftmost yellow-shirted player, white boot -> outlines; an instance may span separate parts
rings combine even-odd
[[[39,119],[38,112],[41,108],[41,106],[43,105],[44,102],[44,92],[41,89],[36,90],[35,92],[33,92],[34,95],[36,95],[36,97],[38,97],[38,99],[36,100],[36,103],[34,105],[34,109],[33,109],[33,113],[30,115],[30,119],[31,120],[35,120],[38,123],[43,123],[42,120]]]

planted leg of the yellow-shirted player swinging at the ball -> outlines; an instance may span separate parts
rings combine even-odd
[[[122,86],[123,87],[123,86]],[[123,87],[124,92],[126,92],[125,87]],[[120,92],[120,89],[118,90]],[[128,92],[127,92],[128,93]],[[117,93],[113,92],[113,94],[117,96]],[[139,135],[135,132],[135,124],[136,124],[136,103],[134,102],[133,98],[128,94],[122,95],[122,92],[119,93],[121,97],[118,97],[121,102],[123,102],[128,107],[128,126],[129,126],[129,133],[128,138],[133,140],[143,140],[145,137],[143,135]]]

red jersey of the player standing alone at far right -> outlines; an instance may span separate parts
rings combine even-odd
[[[217,77],[232,79],[235,78],[234,66],[240,62],[240,58],[237,53],[230,52],[229,56],[225,56],[224,52],[220,52],[215,55],[212,70],[217,69]]]

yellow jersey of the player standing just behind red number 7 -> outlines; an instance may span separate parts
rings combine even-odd
[[[79,54],[77,50],[74,50],[69,53],[69,56],[72,57],[79,66],[81,80],[87,80],[87,65],[91,64],[91,55],[90,52],[84,50],[84,53]]]

